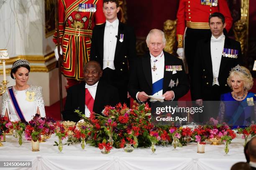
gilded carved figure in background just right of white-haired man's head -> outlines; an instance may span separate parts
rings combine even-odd
[[[176,43],[176,25],[176,20],[166,20],[164,22],[164,35],[166,38],[164,50],[170,54],[174,54],[174,45]]]

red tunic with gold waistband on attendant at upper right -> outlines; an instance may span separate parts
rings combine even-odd
[[[218,0],[217,6],[201,5],[200,0],[179,0],[179,10],[177,13],[177,40],[178,47],[183,47],[183,35],[185,28],[210,29],[209,16],[219,12],[225,16],[226,30],[232,27],[228,3],[226,0]]]

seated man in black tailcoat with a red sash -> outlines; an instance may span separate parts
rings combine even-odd
[[[101,81],[102,70],[97,61],[90,61],[84,67],[84,82],[70,87],[62,112],[64,120],[78,122],[80,117],[74,110],[90,116],[90,112],[101,114],[106,105],[115,106],[119,102],[118,90]]]

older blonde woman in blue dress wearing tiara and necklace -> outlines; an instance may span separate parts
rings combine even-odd
[[[254,123],[256,97],[253,92],[248,92],[253,87],[250,71],[246,67],[237,65],[231,69],[227,82],[232,92],[220,97],[219,119],[233,127]]]

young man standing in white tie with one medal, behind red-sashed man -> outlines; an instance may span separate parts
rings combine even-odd
[[[133,28],[118,20],[119,10],[118,0],[103,1],[106,23],[93,30],[90,60],[100,63],[102,80],[118,88],[122,103],[129,103],[127,85],[136,58],[136,36]]]

